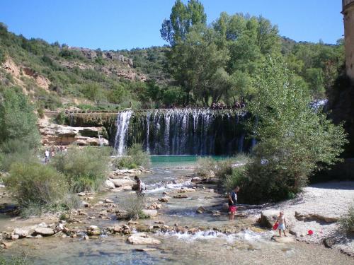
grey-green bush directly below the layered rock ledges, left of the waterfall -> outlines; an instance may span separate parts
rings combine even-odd
[[[67,176],[73,192],[96,191],[108,172],[108,148],[87,147],[56,155],[51,164]]]

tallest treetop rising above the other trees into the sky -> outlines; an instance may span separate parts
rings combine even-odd
[[[193,25],[205,24],[206,21],[207,15],[200,1],[189,0],[185,5],[181,0],[176,0],[170,19],[165,19],[161,25],[161,37],[171,46],[176,45],[178,41],[185,40],[185,36]]]

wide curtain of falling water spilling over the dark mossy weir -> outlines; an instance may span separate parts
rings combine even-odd
[[[246,114],[206,108],[120,112],[115,148],[142,143],[152,155],[230,155],[247,152],[251,144],[241,120]]]

